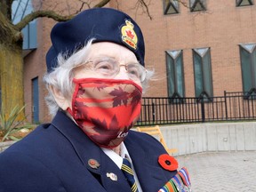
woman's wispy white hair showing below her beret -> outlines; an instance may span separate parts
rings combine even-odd
[[[53,68],[50,73],[44,76],[44,83],[48,90],[48,95],[45,97],[46,104],[49,108],[49,113],[55,116],[60,106],[57,104],[53,97],[52,87],[60,92],[64,98],[68,100],[72,99],[74,92],[74,84],[72,79],[74,77],[74,69],[77,66],[81,66],[84,61],[88,60],[88,54],[92,47],[91,39],[88,43],[79,51],[75,51],[68,59],[66,59],[66,53],[59,53],[57,58],[57,67]],[[148,80],[153,76],[154,72],[147,70],[146,79],[141,82],[142,90],[145,92],[148,87]]]

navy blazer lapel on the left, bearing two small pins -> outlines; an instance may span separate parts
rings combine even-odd
[[[69,140],[82,164],[106,191],[131,192],[123,172],[68,116],[60,111],[52,124]]]

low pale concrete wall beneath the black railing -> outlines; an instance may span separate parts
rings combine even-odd
[[[256,150],[256,122],[161,125],[174,156],[205,151]]]

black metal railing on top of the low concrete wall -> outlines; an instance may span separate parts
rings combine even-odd
[[[256,118],[253,92],[224,92],[212,98],[142,99],[140,119],[136,125],[180,124]]]

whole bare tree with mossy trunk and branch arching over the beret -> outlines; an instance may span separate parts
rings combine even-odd
[[[0,0],[0,89],[2,108],[4,107],[4,113],[9,114],[12,108],[15,106],[24,105],[24,86],[23,86],[23,58],[22,58],[22,43],[23,36],[21,30],[25,28],[28,23],[37,18],[51,18],[56,21],[65,21],[73,18],[78,12],[84,9],[90,9],[93,7],[103,7],[111,0],[76,0],[76,10],[69,11],[67,13],[60,12],[58,1],[54,2],[54,5],[46,8],[44,1],[40,0],[36,4],[34,12],[29,13],[17,24],[12,23],[12,3],[13,0]],[[114,0],[112,0],[114,1]],[[115,0],[117,2],[117,0]],[[72,2],[73,4],[74,2]],[[66,0],[67,6],[65,10],[69,8],[68,0]],[[148,6],[144,0],[138,0],[137,4],[140,4],[148,16]],[[63,7],[63,4],[61,4]],[[34,5],[35,6],[35,5]],[[44,7],[44,10],[42,9]],[[57,11],[58,10],[58,11]],[[20,115],[23,118],[25,113]]]

